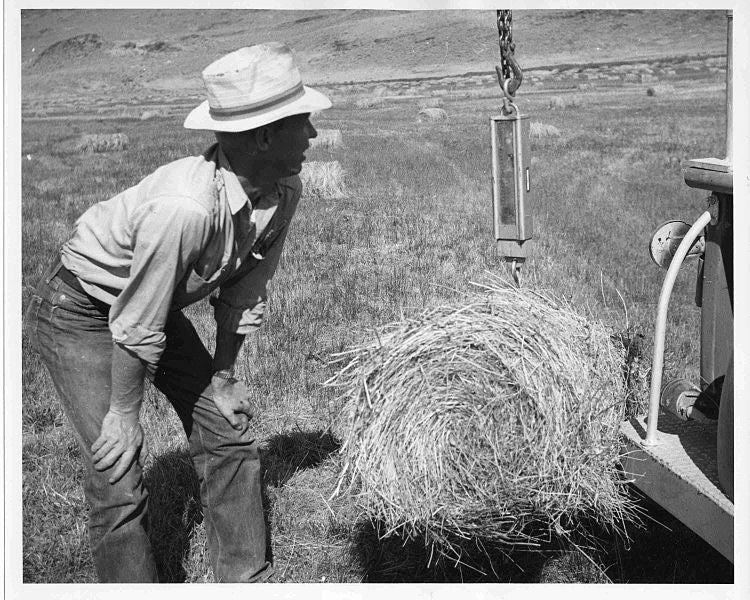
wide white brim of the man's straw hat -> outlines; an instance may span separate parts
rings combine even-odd
[[[232,117],[225,119],[215,119],[211,116],[208,107],[208,100],[195,107],[185,118],[183,124],[185,129],[203,129],[207,131],[247,131],[255,129],[261,125],[268,125],[284,117],[299,115],[302,113],[312,113],[319,110],[331,108],[331,101],[327,96],[319,91],[304,86],[305,93],[282,106],[265,110],[263,112],[247,116]]]

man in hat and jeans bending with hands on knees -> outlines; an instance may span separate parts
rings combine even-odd
[[[216,132],[217,144],[88,209],[28,311],[86,463],[103,582],[157,581],[140,460],[144,377],[187,433],[216,580],[264,581],[272,570],[250,394],[234,363],[262,322],[299,201],[317,135],[310,113],[331,103],[302,84],[278,43],[232,52],[203,80],[208,99],[184,125]],[[214,291],[212,357],[180,309]]]

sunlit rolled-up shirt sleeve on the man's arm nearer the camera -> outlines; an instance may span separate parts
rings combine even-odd
[[[164,326],[175,286],[210,235],[208,211],[190,198],[161,196],[132,219],[130,275],[109,313],[112,339],[147,365],[164,351]]]

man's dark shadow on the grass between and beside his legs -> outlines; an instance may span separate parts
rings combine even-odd
[[[273,555],[267,486],[283,486],[294,473],[318,466],[340,446],[331,433],[320,430],[278,434],[260,445],[268,560],[272,561]],[[190,552],[193,529],[203,521],[198,477],[187,450],[155,457],[145,474],[145,484],[149,490],[150,538],[159,581],[184,582],[187,577],[184,561]]]

